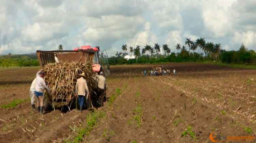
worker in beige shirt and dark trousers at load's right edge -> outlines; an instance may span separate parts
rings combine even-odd
[[[103,76],[103,72],[100,72],[100,75],[96,75],[96,77],[98,78],[98,97],[99,97],[99,104],[100,106],[104,105],[104,100],[105,100],[105,96],[104,96],[104,92],[106,89],[106,79]]]

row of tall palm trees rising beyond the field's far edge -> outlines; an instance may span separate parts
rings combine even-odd
[[[188,54],[192,54],[194,57],[194,53],[199,53],[199,55],[203,58],[208,57],[208,58],[215,58],[217,60],[219,52],[221,51],[221,44],[214,44],[212,42],[205,42],[204,38],[198,38],[196,39],[196,41],[192,41],[190,40],[190,38],[186,38],[185,41],[185,45],[188,46],[188,51],[186,49],[186,47],[183,45],[181,46],[181,44],[177,44],[175,47],[178,51],[180,51],[180,54],[183,55],[183,57],[185,57],[186,53],[188,52]],[[142,48],[141,50],[141,54],[142,55],[153,55],[153,54],[157,54],[159,55],[160,50],[162,48],[162,51],[164,52],[164,55],[169,55],[171,53],[171,49],[169,48],[169,46],[167,44],[163,44],[161,47],[158,43],[156,43],[154,45],[154,47],[151,47],[151,45],[146,44],[146,46],[144,46],[144,48]],[[124,53],[120,52],[120,53],[116,53],[117,56],[119,55],[127,55],[126,51],[127,51],[127,45],[124,44],[122,45],[122,50],[124,51]],[[193,52],[190,52],[193,51]],[[195,52],[197,51],[197,52]],[[133,53],[136,57],[140,56],[140,46],[137,45],[136,48],[130,47],[130,53]],[[215,55],[215,57],[213,57]]]

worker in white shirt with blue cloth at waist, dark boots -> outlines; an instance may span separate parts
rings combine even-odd
[[[45,75],[44,70],[41,70],[37,75],[36,82],[35,82],[35,97],[37,97],[37,106],[40,114],[43,113],[43,108],[44,108],[43,107],[44,89],[47,89],[48,91],[50,90],[43,79],[44,75]]]

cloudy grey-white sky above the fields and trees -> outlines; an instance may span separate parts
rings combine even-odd
[[[203,37],[256,49],[256,0],[1,0],[0,54],[100,46],[109,55]]]

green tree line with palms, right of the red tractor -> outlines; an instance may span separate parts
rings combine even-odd
[[[132,63],[158,63],[158,62],[196,62],[196,61],[219,61],[225,63],[256,63],[254,50],[248,50],[243,44],[238,51],[223,50],[221,44],[206,42],[204,38],[192,41],[186,38],[184,45],[175,45],[177,52],[171,51],[169,45],[158,43],[154,46],[146,44],[143,48],[140,45],[129,47],[130,54],[135,55],[136,59],[125,60],[128,55],[127,45],[122,45],[123,52],[116,52],[115,56],[109,58],[109,63],[132,64]],[[161,52],[162,51],[162,52]]]

